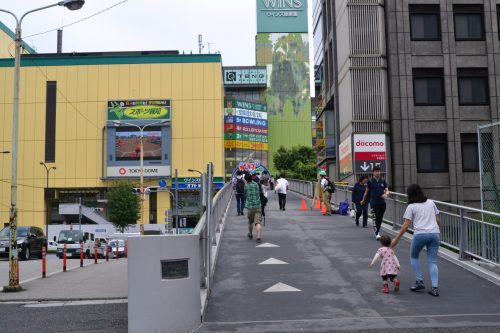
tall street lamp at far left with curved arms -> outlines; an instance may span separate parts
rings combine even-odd
[[[82,8],[85,4],[84,0],[64,0],[54,3],[52,5],[40,7],[27,11],[21,16],[20,19],[17,16],[5,9],[0,9],[0,12],[10,14],[16,20],[16,38],[15,38],[15,57],[14,57],[14,108],[12,112],[12,174],[11,174],[11,207],[10,207],[10,217],[9,217],[9,227],[10,227],[10,238],[9,238],[9,285],[4,287],[4,291],[19,291],[21,286],[19,286],[19,274],[17,272],[18,267],[18,256],[17,256],[17,131],[19,122],[19,81],[20,81],[20,67],[21,67],[21,23],[26,15],[39,10],[63,6],[69,10],[78,10]]]

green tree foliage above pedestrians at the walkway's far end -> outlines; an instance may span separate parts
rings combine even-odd
[[[311,147],[295,146],[290,149],[280,147],[273,157],[274,166],[287,178],[316,179],[316,153]]]

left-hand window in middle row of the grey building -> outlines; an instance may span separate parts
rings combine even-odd
[[[413,100],[415,105],[444,105],[442,68],[413,69]]]

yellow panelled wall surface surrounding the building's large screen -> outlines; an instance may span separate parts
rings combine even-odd
[[[106,187],[102,181],[103,133],[108,100],[172,100],[172,170],[190,176],[188,168],[204,171],[214,162],[215,175],[223,175],[222,85],[220,63],[166,63],[88,66],[48,66],[23,68],[25,91],[21,100],[18,183],[21,224],[44,223],[46,82],[57,81],[56,172],[51,172],[51,187],[85,189]],[[1,83],[5,82],[5,85]],[[0,68],[0,140],[10,150],[12,68]],[[1,147],[0,147],[1,148]],[[10,158],[0,171],[10,178]],[[138,184],[138,179],[134,179]],[[156,185],[157,180],[148,181]],[[30,187],[31,186],[31,187]],[[0,219],[8,218],[9,186],[0,185]],[[4,208],[1,208],[4,207]],[[167,193],[158,194],[157,221],[164,223],[164,210],[170,207]],[[145,213],[149,211],[145,202]],[[145,214],[145,222],[149,215]],[[29,221],[24,222],[24,221]]]

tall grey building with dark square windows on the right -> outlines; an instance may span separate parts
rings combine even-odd
[[[354,160],[346,173],[337,151],[339,179],[364,171],[353,138],[383,134],[394,191],[419,183],[429,197],[479,206],[477,126],[499,119],[500,4],[318,0],[314,8],[319,110],[334,115],[335,146],[350,141]]]

